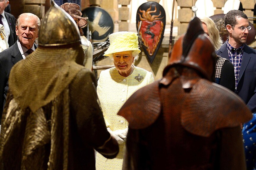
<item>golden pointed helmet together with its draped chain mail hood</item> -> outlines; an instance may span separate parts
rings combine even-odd
[[[64,18],[61,23],[69,23],[69,27],[50,30],[47,26],[55,20],[59,20],[60,14]],[[51,20],[48,20],[49,18]],[[56,47],[57,42],[50,40],[50,37],[43,36],[45,32],[48,32],[49,35],[57,35],[62,31],[67,33],[65,36],[70,36],[66,39],[73,38],[72,41],[67,40],[69,45]],[[10,91],[16,102],[21,108],[29,107],[32,111],[36,111],[56,98],[69,85],[79,70],[83,68],[83,66],[76,63],[80,56],[84,56],[77,26],[69,14],[54,5],[53,2],[42,19],[38,41],[39,44],[41,43],[38,48],[25,60],[15,64],[9,77]],[[66,44],[64,40],[62,41],[58,43]],[[47,46],[42,43],[46,43]],[[51,46],[51,44],[54,46]],[[42,72],[42,70],[44,71]]]

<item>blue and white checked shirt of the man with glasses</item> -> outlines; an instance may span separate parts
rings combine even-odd
[[[236,77],[236,88],[237,88],[238,75],[241,67],[242,56],[244,53],[244,44],[241,47],[235,49],[228,43],[228,40],[227,40],[227,51],[228,51],[229,61],[231,61],[231,63],[233,63],[234,65],[235,77]]]

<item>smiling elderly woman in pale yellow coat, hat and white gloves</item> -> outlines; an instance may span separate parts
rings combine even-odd
[[[116,32],[109,35],[110,46],[105,56],[113,59],[115,67],[99,75],[97,94],[108,132],[119,143],[119,153],[114,159],[96,154],[96,170],[121,170],[128,122],[117,115],[127,99],[139,88],[154,82],[151,72],[133,65],[138,57],[138,36],[133,32]]]

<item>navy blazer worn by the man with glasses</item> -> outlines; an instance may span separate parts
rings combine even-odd
[[[216,54],[229,60],[226,42]],[[256,112],[256,50],[246,44],[244,44],[244,54],[235,91],[252,113]]]

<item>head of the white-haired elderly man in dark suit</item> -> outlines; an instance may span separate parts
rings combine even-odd
[[[32,15],[22,16],[19,27],[16,26],[16,35],[20,44],[30,49],[38,38],[37,18]]]

